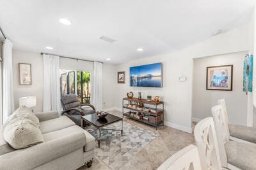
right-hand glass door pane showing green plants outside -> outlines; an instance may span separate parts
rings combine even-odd
[[[91,102],[91,73],[77,72],[77,96],[81,104]]]

